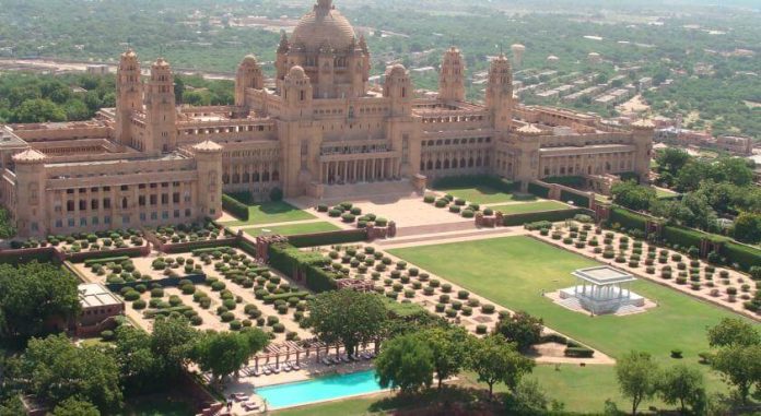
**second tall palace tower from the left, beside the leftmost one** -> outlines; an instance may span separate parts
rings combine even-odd
[[[172,68],[164,58],[151,66],[145,88],[147,138],[142,151],[171,152],[177,146],[177,108]]]

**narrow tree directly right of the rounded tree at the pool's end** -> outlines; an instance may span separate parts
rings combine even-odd
[[[433,354],[433,369],[441,389],[444,380],[457,375],[465,366],[470,335],[463,326],[448,326],[425,330],[421,336]]]

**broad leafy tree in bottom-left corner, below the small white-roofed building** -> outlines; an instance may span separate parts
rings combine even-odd
[[[52,404],[75,396],[103,411],[121,407],[119,368],[103,347],[75,346],[65,335],[32,338],[22,370],[30,390]]]

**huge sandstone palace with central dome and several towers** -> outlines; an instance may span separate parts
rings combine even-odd
[[[523,106],[504,56],[491,61],[484,104],[466,100],[465,59],[454,47],[436,98],[417,97],[400,64],[371,87],[370,69],[364,37],[331,0],[282,36],[274,80],[255,57],[243,59],[232,106],[177,106],[169,63],[160,58],[143,79],[130,49],[116,108],[86,122],[0,128],[0,202],[20,235],[44,236],[216,218],[223,192],[328,199],[477,174],[524,187],[557,176],[647,179],[648,122],[624,130]]]

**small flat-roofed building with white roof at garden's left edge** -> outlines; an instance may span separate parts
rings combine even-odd
[[[82,313],[77,321],[77,335],[87,336],[110,328],[114,317],[125,312],[125,304],[105,286],[84,283],[78,286]]]

